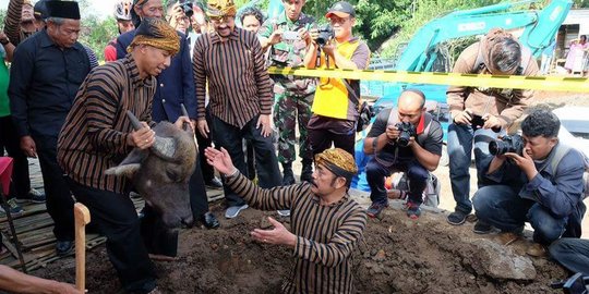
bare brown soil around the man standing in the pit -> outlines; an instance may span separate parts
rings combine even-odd
[[[219,205],[214,210],[223,215]],[[219,230],[183,231],[178,260],[156,261],[159,289],[164,293],[279,293],[290,272],[291,250],[256,243],[249,235],[254,228],[269,225],[266,216],[276,217],[276,212],[248,209],[235,220],[221,220]],[[490,265],[500,255],[518,256],[526,242],[505,247],[497,245],[493,235],[474,235],[471,228],[450,226],[444,215],[432,211],[414,222],[404,211],[386,210],[382,220],[369,221],[365,240],[354,252],[358,292],[553,293],[550,282],[566,277],[553,262],[533,259],[532,279],[493,278]],[[495,247],[501,247],[500,252],[489,254]],[[88,252],[86,271],[91,293],[119,291],[104,246]],[[68,258],[34,274],[72,282],[74,272],[74,261]]]

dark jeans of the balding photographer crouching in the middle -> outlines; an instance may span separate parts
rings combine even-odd
[[[366,164],[366,180],[370,185],[370,199],[373,203],[387,203],[386,189],[384,186],[385,176],[393,171],[402,171],[409,179],[409,201],[421,205],[423,201],[423,189],[428,183],[430,172],[423,168],[414,158],[397,158],[390,167],[372,158]]]

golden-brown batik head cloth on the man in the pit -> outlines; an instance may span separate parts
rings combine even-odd
[[[341,148],[326,149],[315,155],[315,163],[323,166],[337,176],[345,177],[348,183],[358,173],[353,157]]]

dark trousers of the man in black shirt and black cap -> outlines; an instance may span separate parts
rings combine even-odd
[[[74,240],[73,205],[70,186],[57,162],[57,137],[35,136],[37,157],[47,197],[47,212],[53,219],[53,234],[58,241]]]

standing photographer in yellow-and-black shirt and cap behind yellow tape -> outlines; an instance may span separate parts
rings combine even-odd
[[[356,11],[345,1],[336,2],[325,14],[330,26],[311,29],[311,41],[304,56],[308,69],[364,70],[370,49],[352,35]],[[329,28],[333,28],[330,30]],[[356,124],[359,117],[360,81],[322,77],[315,90],[309,124],[309,140],[313,154],[332,147],[353,155]]]

